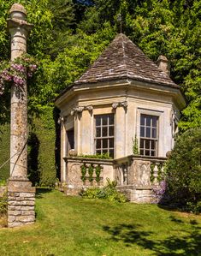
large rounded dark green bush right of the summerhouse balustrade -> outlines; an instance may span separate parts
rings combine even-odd
[[[200,211],[201,128],[180,135],[166,164],[166,173],[171,203]]]

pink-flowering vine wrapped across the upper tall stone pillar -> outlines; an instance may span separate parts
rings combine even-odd
[[[15,58],[13,62],[4,62],[0,65],[0,96],[5,87],[14,84],[23,86],[27,78],[31,78],[36,72],[38,65],[35,59],[29,55]]]

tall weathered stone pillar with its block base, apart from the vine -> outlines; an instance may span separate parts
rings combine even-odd
[[[27,52],[27,23],[24,7],[15,3],[7,21],[11,35],[11,60]],[[35,188],[27,179],[27,83],[11,86],[10,176],[8,184],[8,227],[35,221]]]

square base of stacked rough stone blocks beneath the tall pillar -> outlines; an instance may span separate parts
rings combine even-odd
[[[14,228],[35,222],[36,188],[27,179],[10,178],[8,183],[8,227]]]

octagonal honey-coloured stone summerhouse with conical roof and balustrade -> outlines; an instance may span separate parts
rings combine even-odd
[[[56,99],[66,193],[102,186],[109,178],[132,201],[151,202],[185,104],[180,86],[168,76],[167,58],[153,63],[118,34],[92,67]],[[139,154],[133,154],[133,146],[139,147]],[[81,157],[103,153],[112,159]]]

